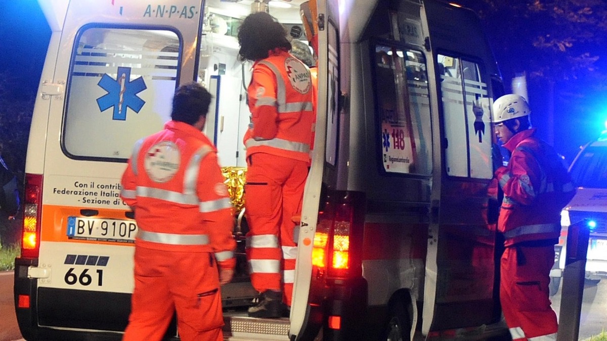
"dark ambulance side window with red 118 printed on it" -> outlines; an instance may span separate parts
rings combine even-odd
[[[416,50],[375,46],[378,146],[385,172],[430,175],[432,131],[426,59]]]

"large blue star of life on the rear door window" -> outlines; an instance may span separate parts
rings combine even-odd
[[[97,83],[107,93],[100,98],[97,98],[97,105],[103,112],[104,110],[114,107],[114,115],[112,120],[126,120],[126,109],[131,108],[134,112],[139,112],[145,101],[141,100],[137,93],[142,92],[146,87],[146,83],[142,77],[131,79],[130,67],[118,67],[117,79],[111,76],[103,75]]]

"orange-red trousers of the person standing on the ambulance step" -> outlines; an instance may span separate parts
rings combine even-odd
[[[301,214],[308,164],[264,153],[249,155],[247,162],[246,257],[251,284],[260,292],[283,289],[283,302],[290,306],[297,257],[293,217]]]

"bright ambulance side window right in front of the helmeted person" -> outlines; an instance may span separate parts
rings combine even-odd
[[[490,100],[482,65],[438,55],[445,167],[452,177],[492,177]]]

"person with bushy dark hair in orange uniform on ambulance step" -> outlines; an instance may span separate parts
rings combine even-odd
[[[291,305],[293,293],[293,217],[300,215],[308,176],[312,81],[308,67],[288,53],[287,32],[268,13],[247,16],[238,41],[240,59],[254,62],[248,87],[252,127],[245,136],[246,255],[251,283],[262,295],[249,316],[273,318],[286,311],[282,301]]]

